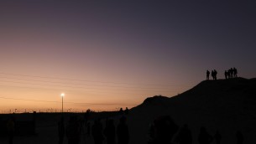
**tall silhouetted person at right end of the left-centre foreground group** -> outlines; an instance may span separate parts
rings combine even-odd
[[[126,117],[122,116],[117,128],[118,144],[128,144],[129,142],[129,131],[126,124]]]

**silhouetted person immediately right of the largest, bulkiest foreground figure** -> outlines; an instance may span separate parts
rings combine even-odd
[[[181,128],[175,141],[177,141],[179,144],[192,144],[191,130],[189,130],[187,125],[184,125]]]

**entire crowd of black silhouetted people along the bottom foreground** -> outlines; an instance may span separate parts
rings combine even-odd
[[[85,115],[85,118],[87,118],[87,115]],[[105,127],[102,125],[101,119],[95,120],[91,126],[90,122],[86,122],[85,119],[81,119],[81,117],[78,116],[71,116],[67,126],[65,126],[62,117],[58,122],[59,144],[63,144],[64,136],[66,136],[68,144],[79,144],[81,143],[81,138],[86,138],[86,136],[92,136],[95,144],[128,144],[130,136],[126,121],[127,117],[120,115],[117,126],[115,126],[113,119],[107,119]],[[84,126],[84,124],[86,124],[86,126]],[[14,126],[15,121],[13,117],[11,117],[7,121],[9,144],[13,143]],[[243,144],[244,137],[241,131],[237,131],[235,137],[237,144]],[[170,116],[159,116],[156,118],[154,122],[149,125],[148,138],[148,144],[172,144],[171,142],[192,144],[195,143],[195,141],[198,141],[199,144],[210,144],[213,141],[220,144],[222,141],[220,131],[217,130],[216,133],[211,136],[205,126],[201,126],[197,140],[193,140],[189,126],[185,124],[179,127]]]

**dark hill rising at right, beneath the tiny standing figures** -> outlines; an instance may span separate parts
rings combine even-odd
[[[256,79],[205,80],[180,95],[150,97],[132,109],[130,121],[143,121],[136,131],[146,132],[149,123],[161,115],[172,116],[180,126],[188,124],[194,143],[201,126],[212,135],[220,130],[224,143],[234,143],[238,130],[243,131],[244,143],[255,143]]]

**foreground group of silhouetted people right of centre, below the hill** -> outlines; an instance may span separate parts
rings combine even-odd
[[[177,134],[176,134],[177,133]],[[171,144],[172,138],[174,143],[179,144],[192,144],[192,133],[188,125],[184,125],[180,128],[175,124],[170,116],[160,116],[154,123],[149,126],[149,141],[148,144]],[[236,133],[237,144],[243,144],[243,134],[241,131]],[[220,144],[222,141],[222,135],[219,131],[216,131],[214,136],[211,136],[206,127],[201,126],[199,136],[197,138],[199,144],[210,144],[216,141]],[[195,142],[194,142],[195,143]]]

